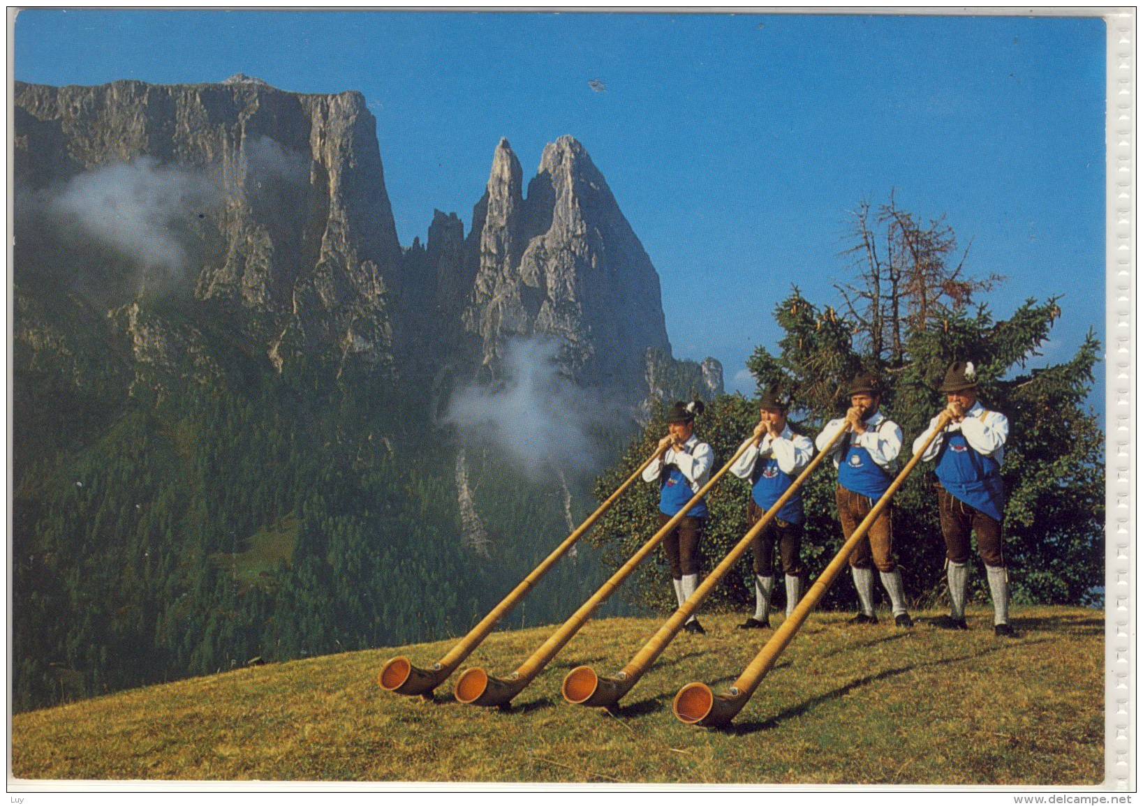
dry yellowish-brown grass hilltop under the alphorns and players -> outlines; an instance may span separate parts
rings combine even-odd
[[[935,613],[921,614],[936,615]],[[377,687],[384,660],[427,666],[451,642],[241,669],[13,719],[18,779],[592,781],[692,783],[1095,784],[1103,780],[1103,614],[1016,608],[948,632],[812,616],[733,728],[688,727],[671,700],[716,691],[762,642],[708,615],[681,634],[617,714],[569,706],[574,666],[609,674],[657,628],[589,622],[510,710]],[[506,674],[549,635],[493,635],[466,666]]]

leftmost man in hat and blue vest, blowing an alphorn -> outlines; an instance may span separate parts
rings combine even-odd
[[[666,416],[668,435],[658,442],[666,446],[662,460],[656,459],[644,470],[644,481],[657,483],[658,523],[666,524],[686,506],[711,477],[714,451],[695,436],[695,417],[703,413],[702,401],[671,406]],[[666,558],[671,565],[671,582],[679,606],[690,598],[698,588],[698,543],[706,525],[706,501],[700,501],[663,540]],[[704,634],[706,630],[692,615],[682,626],[688,632]]]

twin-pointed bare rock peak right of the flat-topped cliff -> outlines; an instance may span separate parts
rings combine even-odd
[[[481,364],[495,376],[507,339],[555,337],[572,377],[638,404],[648,394],[648,350],[672,361],[650,258],[576,138],[547,144],[526,199],[519,177],[502,139],[473,212],[477,271],[463,312],[465,330],[480,340]],[[685,374],[696,379],[688,385],[706,386],[697,364]]]

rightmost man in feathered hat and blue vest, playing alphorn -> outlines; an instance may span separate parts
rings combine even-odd
[[[967,630],[965,597],[968,590],[969,535],[976,532],[976,548],[984,561],[992,594],[993,629],[1012,637],[1008,626],[1008,570],[1004,561],[1004,481],[1000,466],[1008,441],[1008,418],[990,411],[976,400],[976,368],[957,361],[944,376],[941,392],[948,396],[952,421],[921,456],[936,462],[937,503],[941,533],[948,557],[949,599],[952,613],[937,622],[949,629]],[[913,452],[936,428],[937,418],[913,442]]]

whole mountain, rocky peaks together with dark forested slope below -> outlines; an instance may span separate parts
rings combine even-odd
[[[17,708],[463,631],[637,418],[721,392],[573,138],[527,198],[501,143],[471,232],[402,248],[358,92],[17,83],[14,124]],[[608,401],[593,461],[457,410],[529,372],[526,405]],[[512,618],[598,580],[584,549]]]

